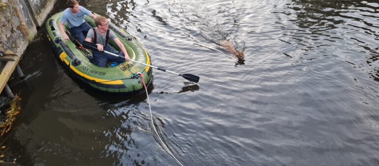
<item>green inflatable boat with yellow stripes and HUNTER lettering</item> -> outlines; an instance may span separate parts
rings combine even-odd
[[[63,12],[57,13],[46,21],[47,37],[58,59],[63,62],[63,66],[77,78],[96,89],[113,93],[138,93],[143,90],[142,77],[139,77],[137,73],[143,75],[146,85],[152,82],[152,68],[146,65],[127,61],[116,66],[108,62],[107,67],[98,67],[91,63],[88,58],[91,55],[90,50],[79,47],[71,40],[63,39],[58,27],[62,15]],[[85,16],[85,21],[95,27],[93,18]],[[67,23],[63,27],[65,31],[68,31]],[[151,64],[146,50],[134,37],[112,23],[109,23],[109,29],[115,32],[124,44],[130,59]],[[109,41],[109,44],[112,47],[116,46],[114,41]],[[114,48],[119,50],[118,47]]]

